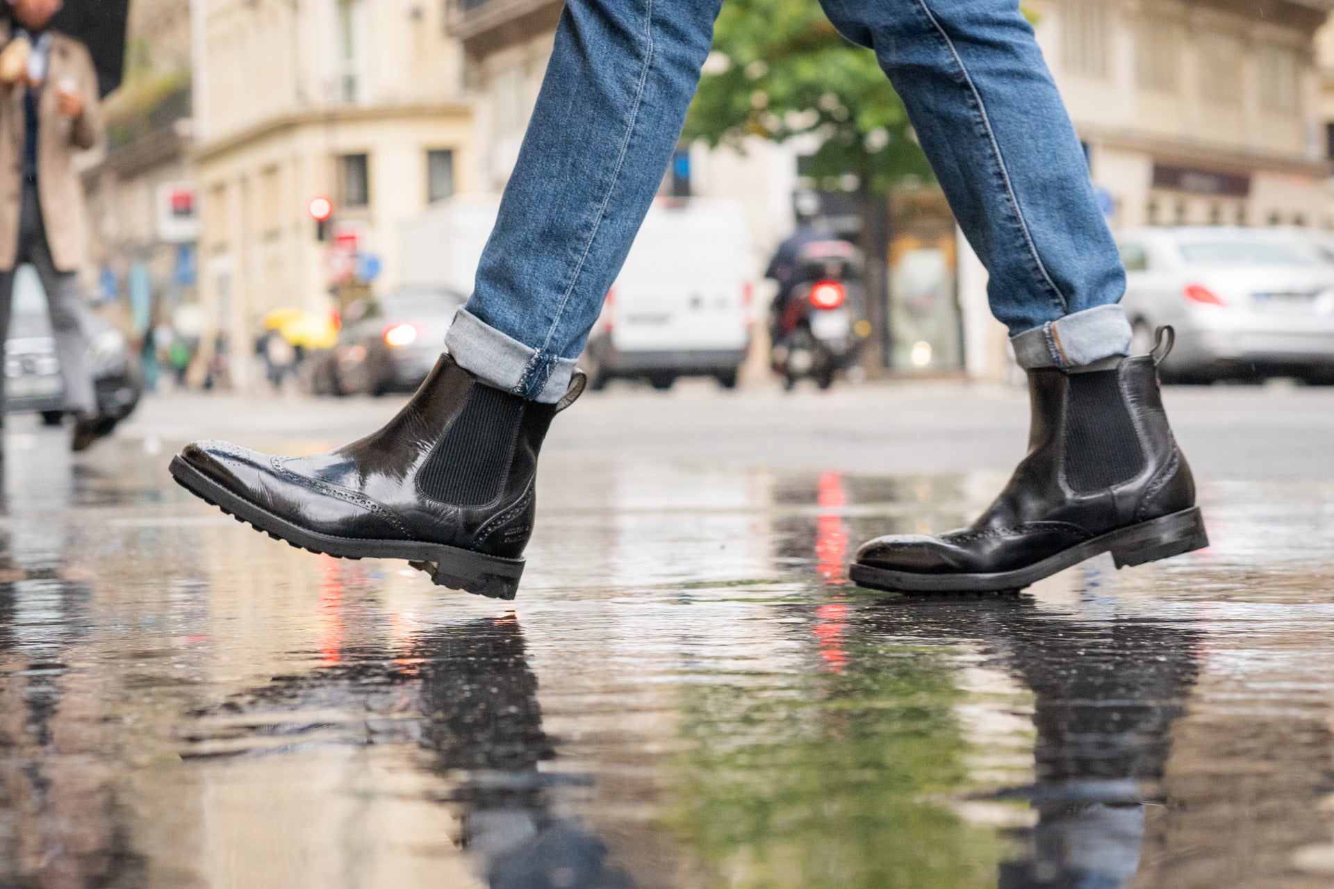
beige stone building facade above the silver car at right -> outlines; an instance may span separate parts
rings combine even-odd
[[[1114,227],[1330,227],[1330,0],[1041,0],[1038,40]]]

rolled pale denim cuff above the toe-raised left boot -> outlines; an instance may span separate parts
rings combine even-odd
[[[530,401],[555,404],[570,389],[574,359],[538,352],[459,309],[444,335],[455,363],[483,383]]]

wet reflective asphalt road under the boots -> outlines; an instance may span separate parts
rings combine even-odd
[[[1022,393],[796,404],[824,428],[795,444],[771,393],[564,415],[516,608],[165,472],[179,439],[309,450],[392,404],[168,399],[80,458],[12,423],[0,886],[1334,881],[1334,395],[1171,393],[1213,546],[986,598],[844,562],[983,506]]]

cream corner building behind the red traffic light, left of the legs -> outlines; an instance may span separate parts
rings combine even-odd
[[[398,224],[475,188],[442,16],[419,0],[195,0],[200,292],[235,383],[267,312],[392,287]],[[307,209],[321,196],[325,240]]]

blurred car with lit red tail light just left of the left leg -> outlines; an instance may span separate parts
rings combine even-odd
[[[332,349],[311,357],[315,395],[412,392],[435,367],[466,297],[444,287],[402,287],[343,313]]]

